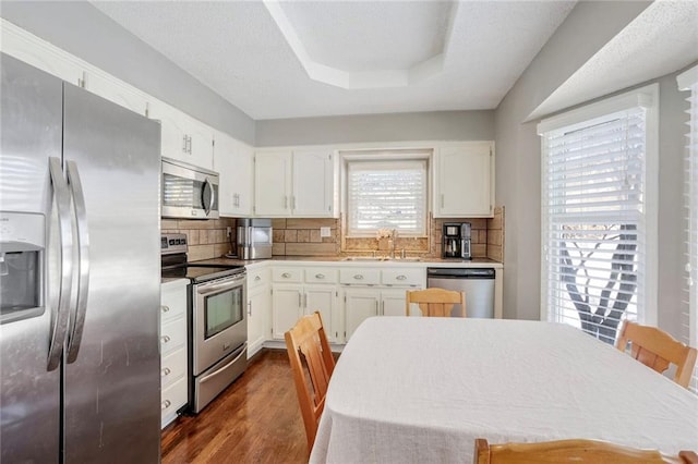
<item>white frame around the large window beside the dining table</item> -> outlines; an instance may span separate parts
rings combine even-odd
[[[575,131],[580,127],[589,127],[602,120],[607,120],[610,114],[642,107],[645,114],[645,184],[643,184],[643,225],[645,225],[645,262],[641,272],[643,278],[637,284],[642,285],[645,294],[641,309],[638,308],[638,321],[645,325],[657,326],[658,321],[658,197],[659,197],[659,85],[652,84],[636,90],[621,94],[614,97],[586,105],[565,113],[545,119],[538,125],[541,135],[541,320],[553,320],[555,314],[550,310],[547,301],[549,292],[549,262],[547,232],[549,216],[546,209],[546,157],[547,147],[544,134],[565,130]],[[637,291],[636,291],[637,295]],[[638,302],[639,303],[639,302]]]

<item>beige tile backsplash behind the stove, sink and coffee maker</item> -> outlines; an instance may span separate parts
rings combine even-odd
[[[395,249],[405,249],[407,256],[441,257],[441,237],[444,222],[470,222],[473,258],[504,260],[504,207],[494,209],[493,218],[433,219],[430,218],[429,237],[400,237]],[[207,221],[163,219],[164,233],[184,233],[189,241],[189,259],[218,258],[231,251],[236,240],[237,219],[221,218]],[[227,228],[231,236],[226,234]],[[378,249],[373,237],[341,236],[341,219],[273,219],[274,256],[340,256],[386,253]],[[329,236],[321,236],[320,229],[329,228]]]

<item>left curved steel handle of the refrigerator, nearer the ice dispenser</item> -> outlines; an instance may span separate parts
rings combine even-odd
[[[73,280],[73,234],[70,217],[70,192],[63,179],[60,158],[50,157],[48,167],[56,199],[56,210],[58,212],[58,233],[61,247],[59,265],[60,293],[58,295],[58,307],[53,316],[53,328],[49,341],[47,362],[47,369],[53,370],[60,364],[70,321],[70,293]]]

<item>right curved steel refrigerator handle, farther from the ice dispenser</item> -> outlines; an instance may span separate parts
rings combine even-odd
[[[73,195],[75,222],[77,229],[77,298],[72,328],[68,338],[68,363],[74,363],[80,352],[87,312],[87,291],[89,290],[89,234],[87,231],[87,209],[85,194],[75,161],[67,161],[68,185]]]

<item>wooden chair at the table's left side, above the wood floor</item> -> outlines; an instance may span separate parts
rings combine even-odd
[[[335,358],[318,312],[300,318],[285,338],[310,452],[325,407]]]

